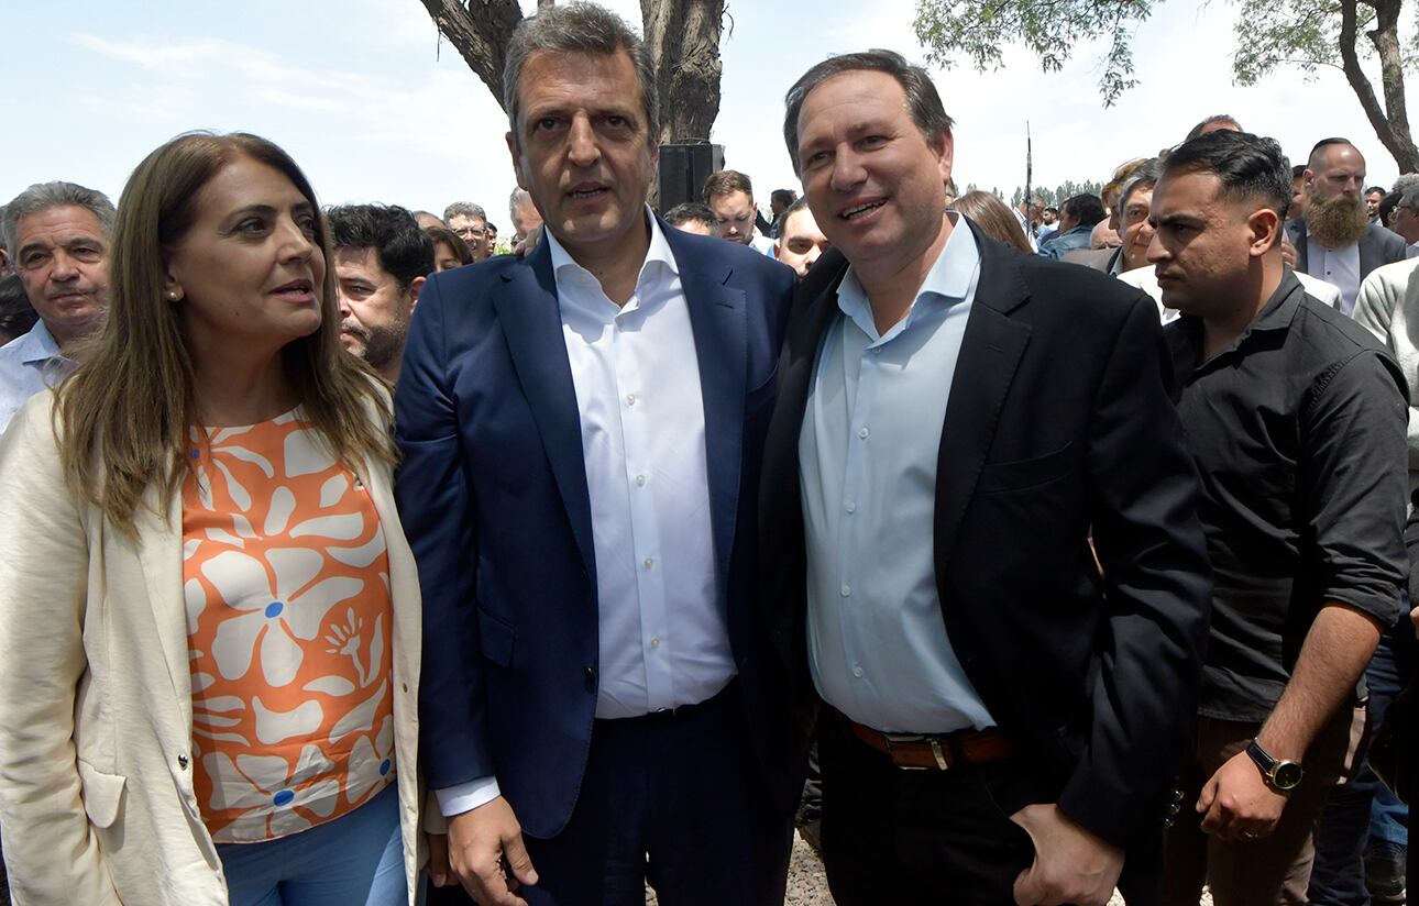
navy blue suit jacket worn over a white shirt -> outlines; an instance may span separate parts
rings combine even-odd
[[[766,781],[790,810],[785,668],[758,610],[755,499],[793,272],[664,225],[700,360],[718,594]],[[552,259],[433,276],[396,393],[396,495],[424,597],[427,783],[495,774],[526,834],[570,818],[597,690],[596,559]]]

